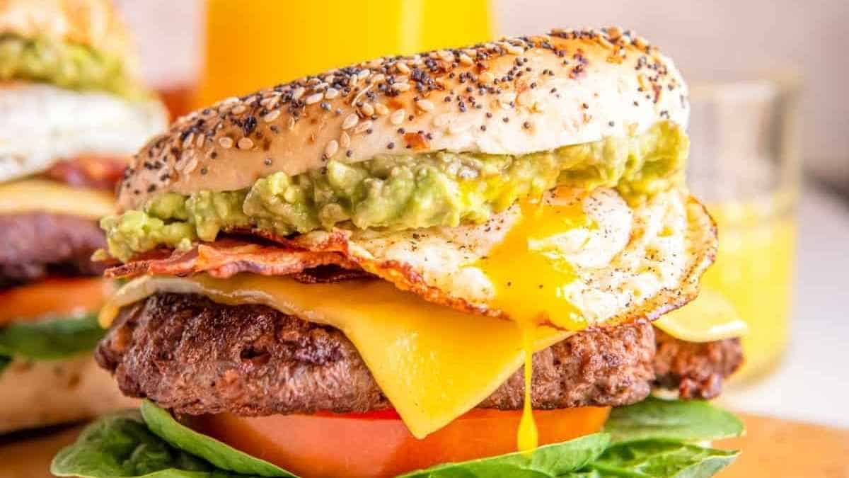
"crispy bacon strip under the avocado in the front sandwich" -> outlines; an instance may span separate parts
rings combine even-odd
[[[226,279],[239,272],[250,272],[262,276],[290,276],[305,282],[334,281],[334,272],[328,278],[309,271],[333,265],[335,270],[356,271],[365,274],[360,267],[337,252],[312,252],[304,249],[228,238],[216,242],[196,245],[194,248],[171,253],[159,251],[134,259],[124,265],[106,270],[107,277],[132,277],[143,274],[188,276],[203,272],[213,277]]]

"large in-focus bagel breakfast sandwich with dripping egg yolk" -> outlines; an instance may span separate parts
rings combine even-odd
[[[712,475],[742,327],[673,311],[717,248],[688,116],[672,60],[607,28],[180,118],[100,223],[126,283],[96,358],[143,405],[53,473]]]

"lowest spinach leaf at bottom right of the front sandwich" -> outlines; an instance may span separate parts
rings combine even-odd
[[[617,443],[586,469],[564,478],[707,478],[716,475],[739,455],[681,441],[644,440]]]

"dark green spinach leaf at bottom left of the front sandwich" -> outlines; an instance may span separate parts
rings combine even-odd
[[[53,458],[50,472],[82,478],[246,478],[171,447],[148,430],[135,410],[88,425]]]

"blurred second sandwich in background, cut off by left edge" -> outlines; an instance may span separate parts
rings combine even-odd
[[[127,159],[166,124],[106,0],[0,2],[0,433],[128,401],[91,352],[91,255]]]

